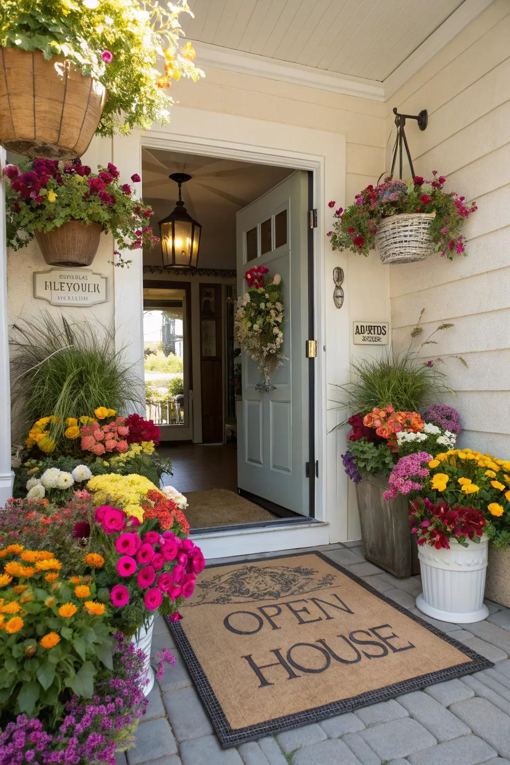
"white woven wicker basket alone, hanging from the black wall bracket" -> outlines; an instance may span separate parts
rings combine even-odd
[[[383,264],[414,263],[432,255],[429,229],[434,217],[434,213],[405,213],[383,218],[375,234]]]

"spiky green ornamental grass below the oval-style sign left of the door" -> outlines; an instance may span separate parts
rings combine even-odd
[[[107,405],[117,412],[134,409],[138,378],[115,350],[112,328],[88,321],[71,323],[47,311],[40,318],[20,319],[11,327],[12,399],[24,425],[57,415],[57,438],[67,417],[92,415]]]

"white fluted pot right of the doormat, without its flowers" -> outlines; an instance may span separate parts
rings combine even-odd
[[[450,543],[450,550],[418,548],[423,592],[416,599],[417,608],[441,621],[481,621],[489,615],[483,603],[489,538],[484,535],[467,547],[454,539]]]

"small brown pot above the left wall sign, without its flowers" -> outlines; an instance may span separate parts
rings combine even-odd
[[[36,231],[35,238],[48,265],[90,265],[99,247],[101,223],[69,220],[51,231]]]

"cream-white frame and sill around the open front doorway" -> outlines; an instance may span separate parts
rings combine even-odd
[[[243,140],[240,140],[240,137]],[[328,471],[326,454],[326,181],[330,189],[336,190],[336,199],[345,200],[346,182],[346,137],[332,132],[281,122],[266,122],[259,119],[210,112],[176,106],[172,113],[171,125],[153,128],[148,132],[134,130],[127,138],[115,135],[112,139],[113,161],[121,173],[128,178],[132,172],[133,157],[138,157],[141,168],[141,148],[160,148],[166,151],[186,152],[212,158],[274,164],[295,170],[313,172],[313,207],[319,211],[317,228],[313,229],[313,285],[319,299],[314,301],[315,340],[318,355],[314,369],[315,398],[315,459],[319,463],[319,476],[315,483],[315,519],[309,526],[280,526],[279,529],[251,529],[243,532],[225,530],[197,535],[200,545],[208,557],[242,554],[243,552],[270,552],[309,545],[322,545],[330,541],[347,539],[347,495],[342,492],[341,504],[337,503],[336,465]],[[326,177],[327,168],[327,177]],[[141,190],[141,185],[140,185]],[[119,269],[118,269],[119,270]],[[134,300],[133,278],[141,273],[141,264],[133,269],[132,276],[125,269],[115,275],[115,334],[119,346],[133,347],[131,360],[134,366],[141,365],[138,350],[141,304]],[[129,291],[131,304],[124,301]],[[140,288],[141,293],[141,279]],[[135,324],[133,324],[135,321]],[[343,322],[344,323],[344,322]],[[348,325],[346,325],[348,326]],[[125,327],[133,327],[126,334]],[[138,331],[137,331],[138,329]],[[138,335],[138,337],[137,337]],[[130,346],[132,343],[132,346]],[[330,373],[348,363],[339,354]],[[328,472],[331,480],[328,481]],[[326,503],[326,497],[330,499]],[[230,539],[231,536],[234,539]]]

